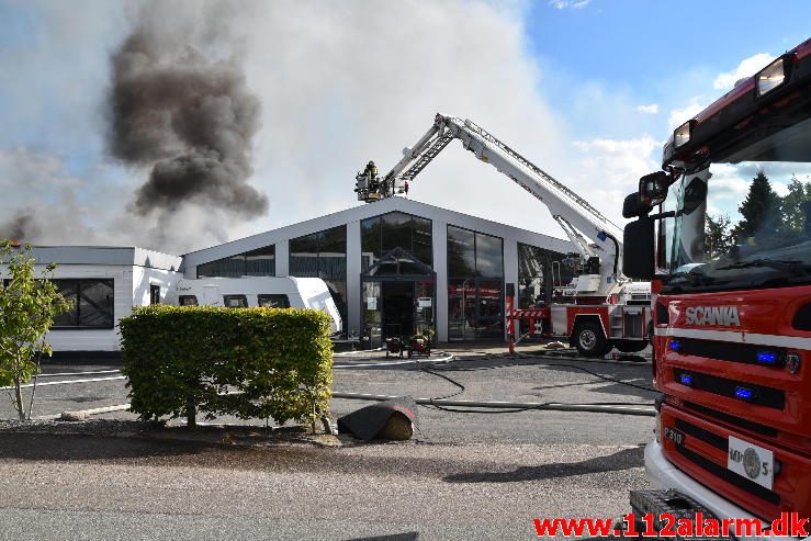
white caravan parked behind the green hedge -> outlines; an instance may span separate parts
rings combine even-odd
[[[174,295],[167,300],[179,306],[249,306],[270,308],[313,308],[333,319],[333,334],[342,330],[340,313],[324,280],[319,278],[201,278],[180,280]]]

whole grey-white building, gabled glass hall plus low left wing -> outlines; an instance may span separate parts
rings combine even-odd
[[[350,340],[430,328],[438,341],[502,341],[506,284],[519,307],[571,279],[567,240],[390,198],[182,257],[135,247],[36,246],[74,308],[48,335],[56,352],[115,352],[117,322],[161,303],[181,278],[320,278]],[[0,266],[2,267],[2,266]],[[0,268],[4,272],[4,269]]]

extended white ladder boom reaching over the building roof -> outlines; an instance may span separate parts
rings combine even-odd
[[[622,229],[586,200],[470,120],[437,114],[431,128],[412,148],[404,149],[403,159],[381,179],[380,196],[388,198],[407,191],[407,183],[452,139],[460,139],[466,150],[543,202],[584,260],[599,258],[604,285],[622,279],[619,274]]]

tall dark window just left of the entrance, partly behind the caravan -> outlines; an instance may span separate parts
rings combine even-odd
[[[320,278],[347,320],[347,226],[290,240],[290,275]]]

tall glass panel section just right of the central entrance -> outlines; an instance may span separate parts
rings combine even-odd
[[[504,339],[504,240],[448,226],[448,338]]]

